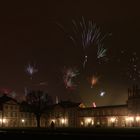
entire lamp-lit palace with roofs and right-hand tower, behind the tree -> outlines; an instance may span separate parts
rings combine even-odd
[[[123,105],[84,107],[80,103],[61,101],[42,114],[41,127],[139,127],[140,89],[128,89]],[[36,127],[35,115],[29,107],[16,100],[0,97],[0,127]]]

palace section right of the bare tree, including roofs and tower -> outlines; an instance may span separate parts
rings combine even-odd
[[[123,105],[84,107],[70,102],[64,106],[60,102],[53,107],[49,120],[56,127],[139,127],[140,89],[128,89],[128,100]]]

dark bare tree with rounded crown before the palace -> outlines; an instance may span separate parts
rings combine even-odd
[[[32,90],[27,93],[26,102],[29,104],[32,112],[36,116],[37,127],[40,127],[41,115],[45,112],[48,105],[52,104],[52,98],[44,91]]]

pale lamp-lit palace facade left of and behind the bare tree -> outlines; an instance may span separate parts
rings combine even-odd
[[[45,127],[44,116],[41,117],[41,127]],[[20,105],[14,101],[3,104],[0,110],[0,127],[36,127],[35,115],[20,110]]]

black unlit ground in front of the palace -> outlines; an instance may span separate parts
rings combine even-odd
[[[0,137],[32,139],[140,139],[140,128],[0,129]]]

